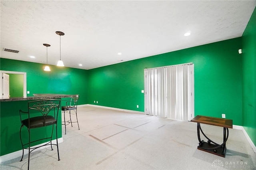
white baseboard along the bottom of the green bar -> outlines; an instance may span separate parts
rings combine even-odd
[[[58,143],[60,144],[60,143],[62,143],[62,142],[63,142],[63,138],[58,138]],[[44,145],[44,144],[46,144],[46,143],[48,143],[48,142],[45,142],[45,143],[42,143],[42,144],[38,144],[38,145],[36,145],[36,147],[37,147],[37,146]],[[52,143],[53,143],[53,144],[56,144],[56,139],[52,140]],[[41,150],[41,149],[44,149],[44,148],[47,148],[47,147],[50,147],[50,145],[42,146],[42,147],[40,147],[40,148],[38,148],[38,149],[36,149],[36,150]],[[25,154],[28,154],[28,150],[27,150],[27,149],[24,150],[24,155],[25,155]],[[0,163],[1,163],[1,162],[5,162],[5,161],[7,161],[7,160],[14,159],[14,158],[18,158],[18,157],[20,157],[20,156],[22,156],[22,150],[18,150],[18,151],[16,151],[16,152],[12,152],[12,153],[10,153],[10,154],[6,154],[6,155],[3,155],[3,156],[0,156]]]

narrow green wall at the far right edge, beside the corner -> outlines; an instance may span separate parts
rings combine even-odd
[[[256,8],[242,35],[243,126],[256,145]]]

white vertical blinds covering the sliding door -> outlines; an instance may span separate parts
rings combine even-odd
[[[194,117],[194,65],[192,63],[144,70],[145,113],[191,120]]]

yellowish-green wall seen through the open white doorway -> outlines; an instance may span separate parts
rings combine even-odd
[[[11,97],[23,97],[23,74],[8,74],[9,75],[9,92]]]

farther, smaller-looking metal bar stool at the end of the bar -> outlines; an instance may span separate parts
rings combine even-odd
[[[79,124],[78,124],[78,119],[77,119],[78,99],[79,99],[79,95],[77,95],[76,97],[71,97],[70,101],[66,102],[66,106],[61,107],[61,111],[64,112],[64,122],[62,122],[62,125],[65,125],[65,134],[66,134],[66,126],[69,125],[70,123],[71,123],[71,127],[73,127],[72,123],[77,123],[78,130],[80,130]],[[66,121],[65,112],[68,113],[68,111],[69,111],[70,120]],[[71,120],[71,111],[74,111],[76,113],[76,122],[72,122],[72,120]]]

